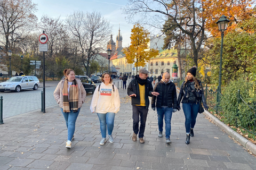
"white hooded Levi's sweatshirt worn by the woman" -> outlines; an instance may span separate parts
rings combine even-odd
[[[91,112],[96,113],[117,113],[120,109],[120,97],[117,87],[114,85],[115,92],[113,91],[113,84],[109,83],[107,86],[102,82],[95,89],[92,103],[90,106]]]

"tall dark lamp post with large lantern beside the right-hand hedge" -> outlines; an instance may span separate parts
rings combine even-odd
[[[220,72],[219,72],[219,93],[221,94],[221,67],[222,67],[222,48],[223,48],[223,37],[224,32],[227,30],[228,22],[227,16],[222,15],[219,19],[218,24],[219,30],[221,31],[221,46],[220,46]]]

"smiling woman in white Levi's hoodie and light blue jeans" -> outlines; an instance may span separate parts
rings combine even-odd
[[[118,89],[112,84],[110,74],[103,73],[101,78],[102,83],[94,91],[90,109],[92,113],[96,112],[99,117],[102,136],[100,145],[104,145],[107,141],[107,129],[109,142],[114,142],[112,132],[114,128],[115,114],[120,109],[120,98]]]

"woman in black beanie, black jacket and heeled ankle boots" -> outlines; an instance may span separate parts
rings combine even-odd
[[[201,101],[206,110],[208,106],[206,104],[206,99],[204,96],[204,89],[202,83],[196,78],[197,67],[193,66],[187,72],[187,77],[184,82],[182,82],[180,87],[180,94],[178,97],[178,111],[180,110],[180,102],[182,103],[182,109],[185,114],[185,128],[186,128],[186,141],[188,145],[190,143],[190,136],[194,137],[194,127],[196,124],[196,117],[199,111],[199,105]],[[198,100],[198,98],[201,98]]]

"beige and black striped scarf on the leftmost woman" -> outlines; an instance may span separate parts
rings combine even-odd
[[[64,81],[63,87],[63,112],[77,112],[78,110],[78,86],[76,80],[74,80],[69,88],[69,100],[68,100],[68,79]]]

